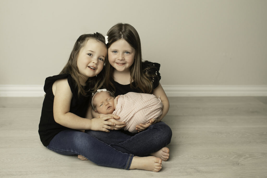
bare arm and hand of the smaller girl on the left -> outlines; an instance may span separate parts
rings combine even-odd
[[[114,125],[114,123],[105,121],[113,118],[112,116],[86,119],[69,112],[72,92],[67,79],[54,82],[53,93],[55,96],[53,105],[54,119],[58,124],[79,130],[101,130],[105,132],[109,132],[108,129],[113,130],[113,127],[109,125]]]

